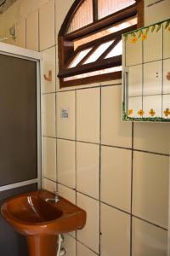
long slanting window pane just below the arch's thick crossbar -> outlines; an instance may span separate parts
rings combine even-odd
[[[91,36],[88,36],[86,38],[79,39],[74,42],[74,49],[77,49],[78,46],[82,44],[87,44],[90,41],[94,41],[95,39],[103,38],[111,33],[121,31],[124,28],[127,28],[129,26],[133,26],[137,24],[137,17],[133,17],[129,20],[125,20],[123,22],[119,22],[115,24],[114,26],[108,27],[105,30],[101,30],[100,32],[96,32]]]

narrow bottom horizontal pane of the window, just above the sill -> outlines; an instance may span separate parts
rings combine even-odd
[[[122,66],[105,68],[105,69],[97,70],[97,71],[90,72],[90,73],[82,73],[82,74],[77,75],[77,76],[72,76],[70,78],[65,78],[64,81],[71,81],[71,80],[75,80],[75,79],[85,79],[85,78],[93,77],[93,76],[100,75],[100,74],[114,73],[114,72],[118,72],[118,71],[122,71]]]

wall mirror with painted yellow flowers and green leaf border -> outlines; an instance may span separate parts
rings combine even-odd
[[[125,121],[170,121],[170,20],[127,32],[123,40]]]

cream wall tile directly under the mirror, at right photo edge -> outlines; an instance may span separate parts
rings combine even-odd
[[[135,149],[169,154],[170,124],[159,123],[134,123]]]

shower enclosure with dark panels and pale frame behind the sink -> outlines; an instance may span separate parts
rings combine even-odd
[[[0,205],[41,187],[41,54],[0,43]],[[3,256],[27,255],[26,241],[0,216]]]

